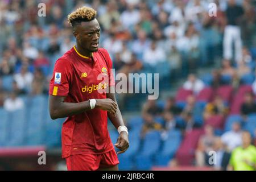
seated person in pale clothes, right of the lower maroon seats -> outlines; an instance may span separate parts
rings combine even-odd
[[[205,134],[200,137],[196,149],[196,166],[202,167],[208,163],[208,155],[209,152],[213,150],[216,139],[213,127],[210,125],[205,126]]]

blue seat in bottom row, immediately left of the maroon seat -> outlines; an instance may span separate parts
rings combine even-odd
[[[174,157],[177,148],[181,142],[181,132],[179,130],[170,130],[168,138],[164,140],[162,150],[154,156],[155,166],[167,166]]]

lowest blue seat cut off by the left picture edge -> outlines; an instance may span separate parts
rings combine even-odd
[[[10,114],[4,109],[0,109],[0,147],[6,146],[7,137],[10,135],[9,123],[10,123]]]

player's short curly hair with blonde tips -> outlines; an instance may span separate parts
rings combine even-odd
[[[72,24],[76,21],[90,21],[95,18],[97,11],[92,9],[91,7],[79,7],[71,14],[68,15],[68,23]]]

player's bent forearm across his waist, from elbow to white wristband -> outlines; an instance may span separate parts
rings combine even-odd
[[[60,105],[52,109],[51,118],[65,118],[71,115],[80,114],[86,110],[90,110],[90,101],[83,101],[78,103],[61,102]]]

